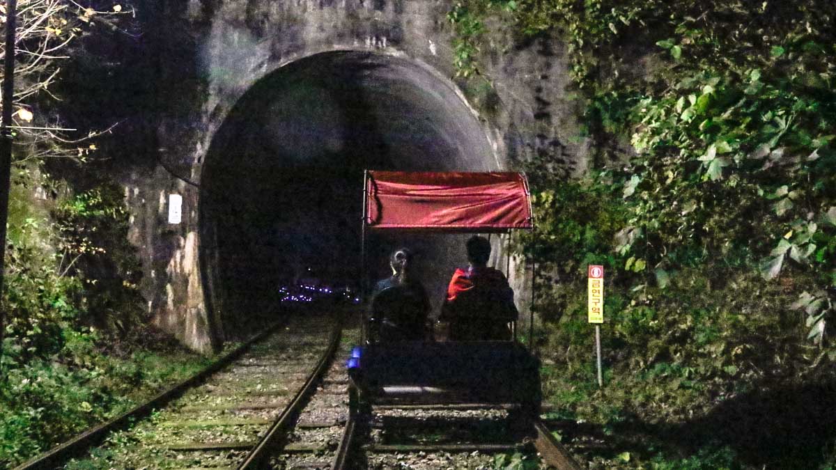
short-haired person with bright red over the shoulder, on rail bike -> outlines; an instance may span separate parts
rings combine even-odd
[[[474,235],[466,249],[470,265],[453,273],[439,321],[450,324],[449,340],[511,340],[508,323],[517,319],[517,306],[505,275],[487,266],[491,243]]]

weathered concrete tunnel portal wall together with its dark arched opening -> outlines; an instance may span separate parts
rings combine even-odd
[[[266,309],[252,299],[307,268],[357,275],[365,168],[514,170],[544,155],[584,168],[563,47],[548,38],[483,58],[490,79],[468,81],[451,79],[443,2],[164,5],[157,163],[132,168],[125,193],[148,312],[194,350],[217,350]],[[166,218],[171,194],[179,224]],[[465,239],[370,238],[369,277],[388,275],[390,249],[415,248],[437,306]],[[506,240],[492,242],[505,268]],[[513,262],[511,278],[524,308]]]

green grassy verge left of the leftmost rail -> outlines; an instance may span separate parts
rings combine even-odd
[[[182,349],[88,351],[86,360],[30,360],[0,385],[0,467],[12,467],[182,381],[209,358]]]

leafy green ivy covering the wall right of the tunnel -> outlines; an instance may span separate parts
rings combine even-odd
[[[489,17],[563,37],[599,154],[582,186],[617,192],[624,216],[590,252],[583,237],[566,240],[566,224],[584,219],[538,175],[546,223],[525,249],[598,253],[628,284],[661,289],[695,265],[757,269],[763,282],[803,276],[788,307],[822,342],[836,302],[836,5],[463,0],[448,15],[463,76],[479,74]]]

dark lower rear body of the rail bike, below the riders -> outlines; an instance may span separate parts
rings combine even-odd
[[[374,404],[519,403],[539,409],[539,360],[514,341],[371,344],[349,376]]]

